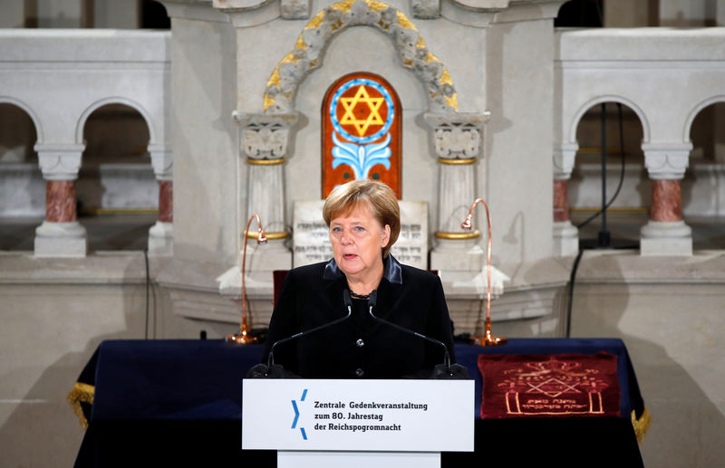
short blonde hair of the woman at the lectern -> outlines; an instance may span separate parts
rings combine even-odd
[[[324,222],[330,227],[333,218],[351,213],[361,205],[370,208],[372,216],[382,227],[385,224],[391,226],[391,237],[382,248],[382,257],[385,258],[401,233],[401,208],[391,187],[370,179],[353,180],[336,186],[324,201]]]

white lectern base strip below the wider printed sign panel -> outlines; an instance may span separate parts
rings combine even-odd
[[[280,450],[277,468],[440,468],[440,452],[307,452]]]

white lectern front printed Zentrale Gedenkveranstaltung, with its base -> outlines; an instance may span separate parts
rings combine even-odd
[[[244,379],[242,449],[277,466],[439,468],[473,452],[473,380]]]

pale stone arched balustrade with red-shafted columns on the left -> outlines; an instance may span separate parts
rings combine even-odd
[[[75,213],[75,183],[85,122],[107,104],[137,110],[149,128],[151,165],[162,186],[160,205],[166,207],[150,230],[150,252],[171,252],[169,42],[168,32],[0,30],[0,103],[20,108],[32,120],[46,182],[36,255],[86,253],[85,229]]]

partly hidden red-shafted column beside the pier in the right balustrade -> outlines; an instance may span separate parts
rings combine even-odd
[[[569,221],[569,199],[566,186],[572,177],[576,143],[554,149],[554,254],[557,257],[576,255],[579,251],[579,230]]]

